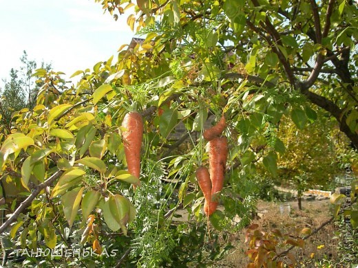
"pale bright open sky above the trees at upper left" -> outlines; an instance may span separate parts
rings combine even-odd
[[[116,56],[134,36],[129,14],[114,21],[94,0],[0,0],[0,80],[19,67],[23,50],[67,77]]]

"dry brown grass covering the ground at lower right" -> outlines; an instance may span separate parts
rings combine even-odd
[[[297,202],[293,201],[289,204],[291,213],[282,214],[280,204],[260,201],[257,206],[259,212],[263,210],[267,212],[261,219],[257,219],[253,223],[257,223],[259,228],[265,232],[277,228],[282,233],[293,233],[295,228],[310,227],[311,230],[314,230],[330,219],[328,200],[305,201],[302,203],[302,211],[298,210]],[[336,260],[338,241],[333,239],[334,231],[335,227],[333,223],[330,223],[317,234],[308,238],[304,249],[293,249],[291,252],[297,260],[296,267],[322,267],[318,264],[322,264],[323,260]],[[244,254],[247,250],[244,239],[244,230],[231,237],[231,243],[235,249],[220,263],[220,267],[246,267],[249,258]],[[284,249],[278,249],[277,252],[282,252]]]

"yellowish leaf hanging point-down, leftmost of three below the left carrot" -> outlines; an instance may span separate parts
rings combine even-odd
[[[67,220],[68,225],[70,225],[70,227],[72,226],[72,223],[74,223],[74,219],[76,218],[78,208],[82,200],[83,189],[83,187],[75,188],[70,192],[66,192],[65,194],[63,194],[63,197],[61,197],[63,213],[65,214],[65,219]]]

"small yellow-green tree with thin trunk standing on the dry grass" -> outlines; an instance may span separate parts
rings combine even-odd
[[[297,190],[298,208],[301,210],[301,197],[305,190],[332,190],[330,187],[340,172],[340,157],[348,154],[349,143],[339,133],[336,122],[324,115],[319,115],[301,131],[284,117],[277,137],[286,146],[284,154],[277,161],[279,178],[293,184]]]

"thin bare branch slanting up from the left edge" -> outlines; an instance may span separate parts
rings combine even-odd
[[[8,220],[6,220],[3,225],[0,226],[0,234],[2,234],[7,227],[14,221],[16,221],[17,217],[19,217],[20,213],[25,210],[25,208],[28,208],[29,205],[31,205],[32,201],[37,197],[37,195],[41,192],[41,190],[45,189],[46,187],[50,186],[57,178],[59,178],[62,175],[62,170],[57,170],[54,172],[54,174],[45,180],[43,183],[40,183],[34,191],[28,196],[27,199],[25,199],[20,205],[17,210],[14,211],[14,213],[10,216]]]

